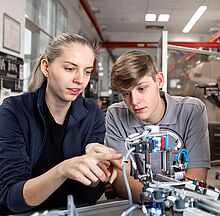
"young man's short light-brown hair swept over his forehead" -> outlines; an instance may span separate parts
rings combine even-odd
[[[156,79],[158,70],[154,58],[141,50],[123,53],[114,63],[111,73],[111,87],[115,91],[125,91],[135,86],[145,75]]]

